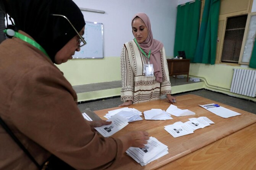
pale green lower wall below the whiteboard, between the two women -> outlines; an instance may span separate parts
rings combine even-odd
[[[57,67],[72,86],[121,80],[119,57],[71,59]]]

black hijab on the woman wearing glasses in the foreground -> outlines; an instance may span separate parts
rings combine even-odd
[[[84,17],[72,0],[5,0],[6,12],[23,30],[39,43],[55,63],[56,53],[76,34],[66,16],[78,32],[85,25]]]

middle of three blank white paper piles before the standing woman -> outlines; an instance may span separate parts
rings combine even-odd
[[[144,111],[144,117],[147,120],[167,120],[172,119],[172,117],[165,111],[161,109],[151,109],[149,111]]]

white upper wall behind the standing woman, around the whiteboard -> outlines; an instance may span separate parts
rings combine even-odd
[[[153,38],[164,43],[173,56],[178,0],[73,0],[80,8],[103,10],[105,14],[83,11],[86,21],[104,26],[104,57],[120,57],[122,46],[133,39],[131,18],[138,12],[149,16]]]

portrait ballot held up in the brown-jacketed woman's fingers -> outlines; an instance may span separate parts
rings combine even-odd
[[[128,125],[128,119],[125,119],[118,114],[113,115],[107,120],[107,122],[110,121],[112,121],[110,125],[95,127],[95,129],[104,137],[109,137]]]

